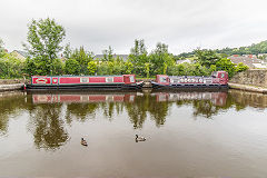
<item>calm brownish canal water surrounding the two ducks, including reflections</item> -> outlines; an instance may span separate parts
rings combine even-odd
[[[236,90],[4,93],[0,177],[264,178],[266,107]]]

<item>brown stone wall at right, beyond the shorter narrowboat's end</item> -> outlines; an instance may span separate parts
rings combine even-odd
[[[266,69],[249,69],[235,75],[230,82],[239,85],[251,85],[258,87],[267,87]]]

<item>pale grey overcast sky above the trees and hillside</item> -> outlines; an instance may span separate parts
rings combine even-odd
[[[129,53],[135,39],[177,55],[200,48],[240,47],[267,40],[266,0],[1,0],[0,38],[23,49],[31,19],[53,18],[63,43],[101,53]]]

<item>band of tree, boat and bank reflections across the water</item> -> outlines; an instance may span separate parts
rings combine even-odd
[[[38,149],[57,150],[70,136],[67,127],[102,116],[112,121],[127,115],[135,129],[149,118],[156,127],[165,125],[171,108],[191,107],[191,115],[212,118],[221,111],[246,107],[264,109],[267,96],[229,90],[228,92],[121,92],[121,93],[33,93],[0,96],[0,136],[8,132],[9,121],[28,113],[28,129]],[[179,115],[178,112],[176,115]]]

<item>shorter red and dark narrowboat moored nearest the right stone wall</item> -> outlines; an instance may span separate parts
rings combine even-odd
[[[228,88],[228,73],[215,71],[210,77],[157,75],[152,88]]]

